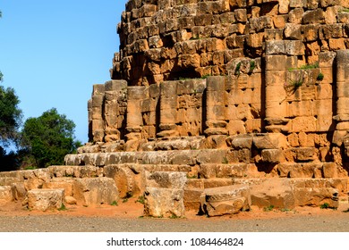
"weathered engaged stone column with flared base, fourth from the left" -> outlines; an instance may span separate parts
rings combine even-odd
[[[165,81],[160,84],[160,125],[157,137],[177,137],[177,82]]]

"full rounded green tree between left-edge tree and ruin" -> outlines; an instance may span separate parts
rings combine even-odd
[[[79,141],[74,137],[75,124],[55,108],[38,118],[29,118],[21,131],[21,146],[28,150],[31,162],[38,168],[63,164],[64,155],[72,154]]]

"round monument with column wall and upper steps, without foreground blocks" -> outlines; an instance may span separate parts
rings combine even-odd
[[[239,177],[346,178],[345,7],[339,0],[128,1],[113,80],[95,86],[89,102],[95,145],[68,164],[104,166],[124,155],[119,163],[188,164],[204,179],[235,172],[236,164],[253,170]],[[221,154],[201,161],[214,150]]]

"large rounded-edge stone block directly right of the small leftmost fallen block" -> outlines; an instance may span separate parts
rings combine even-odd
[[[112,204],[119,200],[119,192],[114,179],[106,177],[75,179],[72,196],[77,204]]]

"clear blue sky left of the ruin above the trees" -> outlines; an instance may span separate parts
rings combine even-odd
[[[23,122],[55,107],[88,141],[92,85],[110,79],[126,0],[3,0],[0,71],[21,100]]]

